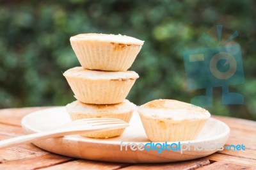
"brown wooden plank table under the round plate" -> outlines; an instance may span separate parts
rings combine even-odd
[[[45,107],[0,109],[0,140],[24,135],[20,120]],[[245,151],[218,151],[208,157],[168,164],[123,164],[79,160],[22,144],[0,150],[0,169],[256,169],[256,121],[214,116],[230,127],[227,145],[244,144]]]

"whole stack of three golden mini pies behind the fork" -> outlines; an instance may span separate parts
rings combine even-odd
[[[118,118],[129,122],[136,105],[126,100],[139,75],[127,71],[140,52],[143,41],[130,36],[82,34],[70,38],[82,66],[63,73],[76,101],[66,106],[72,120]],[[84,135],[108,138],[124,129]]]

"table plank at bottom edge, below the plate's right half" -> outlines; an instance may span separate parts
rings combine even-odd
[[[168,164],[134,164],[132,166],[127,166],[122,168],[122,170],[127,169],[196,169],[198,167],[203,167],[209,165],[210,162],[207,158],[198,158],[196,160],[188,160],[185,162],[175,162]]]

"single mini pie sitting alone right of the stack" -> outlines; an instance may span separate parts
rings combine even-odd
[[[140,118],[152,142],[196,139],[211,114],[201,107],[177,100],[159,99],[141,105]]]

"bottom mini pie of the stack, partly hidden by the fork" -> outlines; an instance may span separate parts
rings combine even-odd
[[[71,120],[79,120],[83,118],[118,118],[129,123],[132,112],[136,110],[136,105],[132,104],[132,102],[129,102],[129,100],[126,99],[120,104],[112,105],[83,104],[76,100],[75,102],[68,104],[66,109]],[[94,138],[115,137],[121,135],[124,130],[125,129],[122,128],[117,130],[109,130],[106,132],[86,134],[83,136]]]

